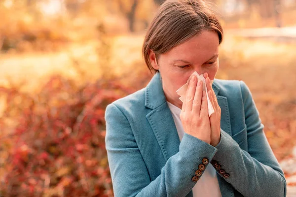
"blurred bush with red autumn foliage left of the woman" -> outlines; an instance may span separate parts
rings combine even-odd
[[[0,88],[7,96],[0,196],[113,196],[105,108],[134,91],[102,81],[77,87],[59,76],[37,95]]]

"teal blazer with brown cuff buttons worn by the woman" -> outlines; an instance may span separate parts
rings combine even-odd
[[[106,149],[115,197],[192,197],[195,171],[207,158],[222,197],[286,197],[286,179],[243,81],[215,79],[221,141],[212,146],[178,132],[156,73],[146,88],[106,108]],[[216,162],[216,164],[214,163]],[[220,168],[220,167],[219,167]],[[204,172],[204,171],[202,171]]]

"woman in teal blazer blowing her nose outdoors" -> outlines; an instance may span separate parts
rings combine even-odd
[[[286,196],[250,90],[243,81],[214,80],[222,37],[207,2],[161,5],[143,46],[153,78],[106,109],[115,197]],[[182,102],[176,91],[189,77]]]

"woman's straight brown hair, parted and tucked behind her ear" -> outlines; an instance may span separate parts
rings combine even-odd
[[[149,49],[158,60],[159,55],[200,33],[212,30],[223,39],[222,26],[212,3],[204,0],[166,0],[148,27],[143,44],[143,56],[149,70],[157,72],[149,61]]]

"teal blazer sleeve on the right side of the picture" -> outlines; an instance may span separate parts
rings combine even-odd
[[[235,190],[244,197],[286,197],[287,183],[284,172],[275,158],[259,112],[247,85],[240,81],[244,103],[245,124],[247,127],[248,152],[225,131],[221,131],[221,140],[216,146],[216,160],[229,174],[225,178]]]

